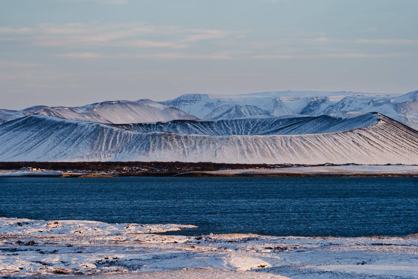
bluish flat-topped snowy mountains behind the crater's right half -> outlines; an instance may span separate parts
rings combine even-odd
[[[317,116],[329,113],[349,116],[350,112],[377,111],[418,129],[417,96],[418,90],[405,95],[281,91],[242,95],[186,94],[161,103],[200,119],[289,114]]]

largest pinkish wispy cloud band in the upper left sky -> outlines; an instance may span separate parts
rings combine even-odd
[[[240,31],[186,29],[180,26],[153,26],[131,23],[38,24],[34,27],[0,27],[4,40],[44,47],[130,47],[187,48],[199,40],[234,37]],[[158,37],[158,39],[155,39]]]

